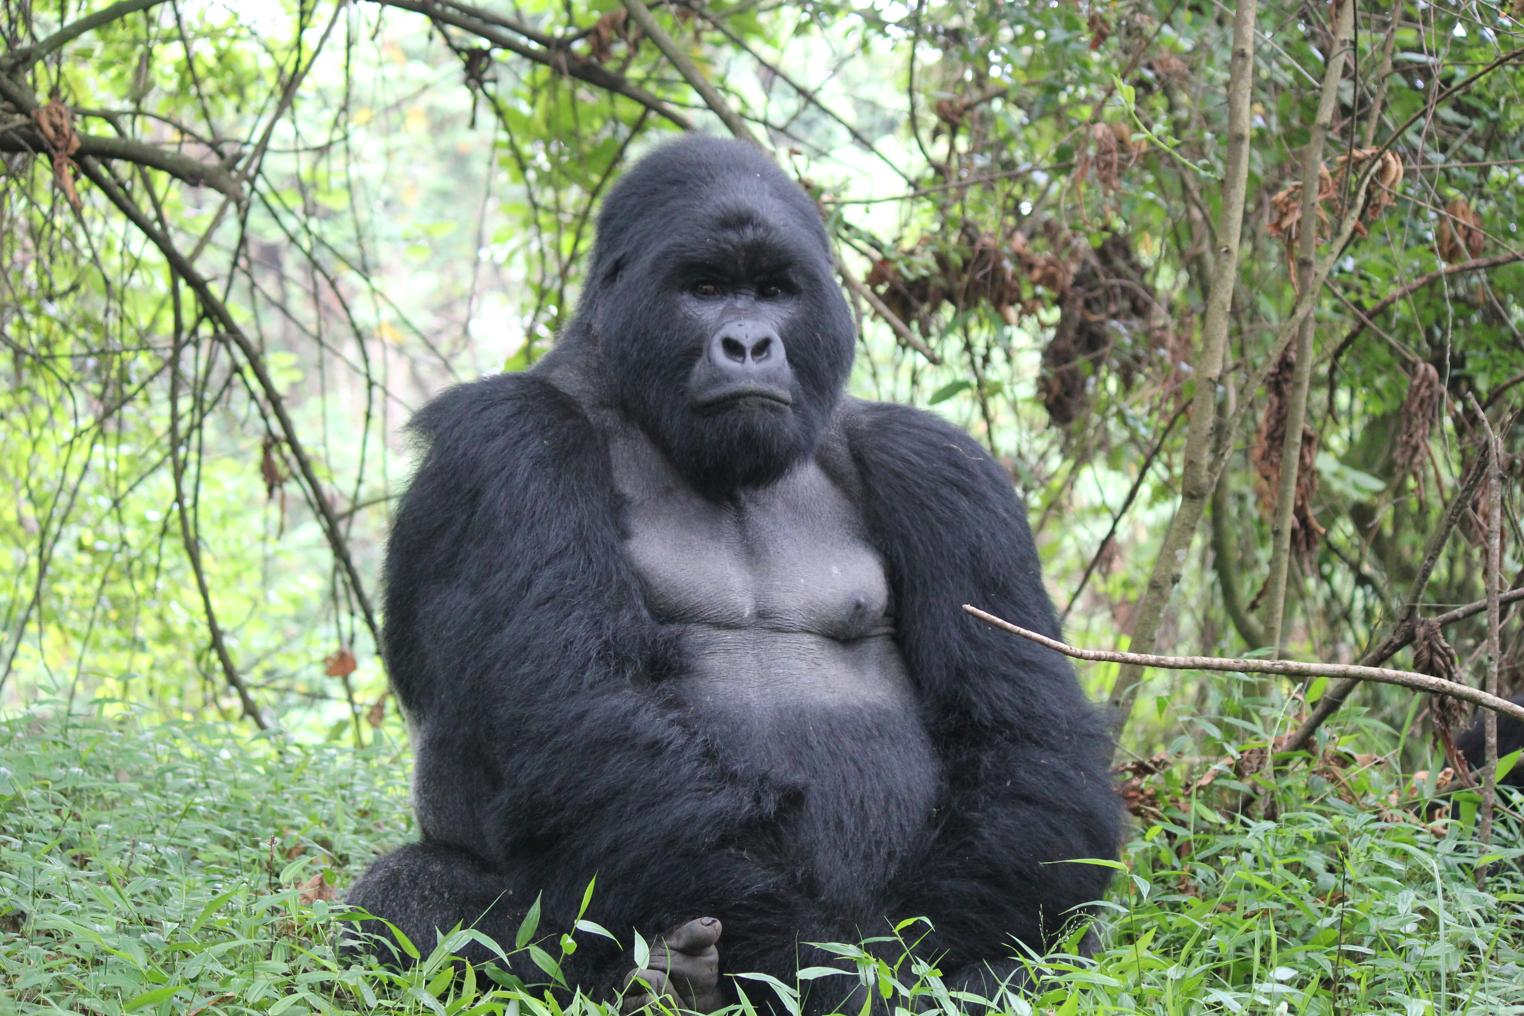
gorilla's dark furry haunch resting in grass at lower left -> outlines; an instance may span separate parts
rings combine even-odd
[[[344,902],[396,925],[425,957],[439,941],[434,932],[450,934],[456,925],[475,928],[509,952],[524,917],[524,905],[507,894],[507,879],[465,850],[430,842],[408,844],[378,859],[349,888]],[[375,951],[389,963],[411,966],[379,920],[361,922],[360,932],[375,938],[361,943],[351,932],[346,947]],[[474,964],[495,960],[475,941],[466,943],[460,955]]]

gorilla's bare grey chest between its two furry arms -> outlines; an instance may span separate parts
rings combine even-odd
[[[681,629],[689,701],[732,714],[910,702],[884,565],[815,463],[716,503],[637,439],[616,442],[614,475],[648,606]]]

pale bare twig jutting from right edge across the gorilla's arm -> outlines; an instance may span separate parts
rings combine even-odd
[[[1076,649],[1074,646],[1061,643],[1056,638],[1049,638],[1047,635],[1027,631],[1026,628],[1018,628],[1017,625],[1001,620],[994,614],[986,614],[977,606],[965,603],[963,609],[981,621],[989,621],[995,628],[1007,631],[1012,635],[1021,635],[1023,638],[1032,640],[1039,646],[1047,646],[1049,649],[1061,652],[1065,657],[1073,657],[1074,660],[1088,660],[1091,663],[1120,663],[1131,667],[1160,667],[1164,670],[1230,670],[1233,673],[1283,673],[1297,678],[1347,678],[1352,681],[1376,681],[1379,684],[1398,684],[1405,689],[1428,692],[1430,695],[1449,695],[1451,698],[1463,699],[1474,705],[1480,705],[1484,710],[1492,710],[1494,713],[1501,713],[1503,716],[1510,716],[1524,722],[1524,705],[1515,705],[1507,699],[1500,699],[1497,695],[1489,695],[1471,687],[1469,684],[1433,678],[1426,673],[1388,670],[1387,667],[1362,667],[1359,664],[1347,663],[1233,660],[1230,657],[1157,657],[1145,652]],[[1291,751],[1291,748],[1286,748],[1286,751]]]

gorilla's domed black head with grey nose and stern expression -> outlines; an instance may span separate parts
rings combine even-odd
[[[710,495],[808,455],[852,367],[820,215],[741,142],[681,140],[625,174],[597,219],[579,326],[625,410]]]

